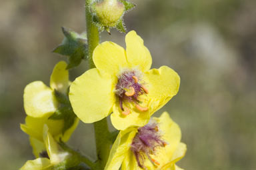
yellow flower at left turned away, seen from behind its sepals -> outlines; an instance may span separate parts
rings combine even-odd
[[[47,87],[42,81],[34,81],[25,87],[24,108],[27,117],[25,124],[21,124],[21,129],[30,136],[32,146],[34,139],[43,141],[44,124],[47,124],[49,133],[56,140],[61,137],[63,141],[67,141],[79,123],[79,119],[75,118],[73,125],[63,133],[65,121],[63,119],[49,119],[59,107],[54,90],[67,93],[70,84],[66,67],[67,63],[65,61],[57,63],[51,75],[51,88]],[[35,153],[35,147],[33,149]]]

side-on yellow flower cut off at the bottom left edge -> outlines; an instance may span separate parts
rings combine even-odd
[[[43,148],[44,152],[40,153],[41,157],[27,161],[20,170],[50,170],[53,169],[53,166],[69,157],[69,153],[63,151],[55,139],[53,139],[47,125],[43,127],[43,143],[34,144],[38,145],[39,148]]]

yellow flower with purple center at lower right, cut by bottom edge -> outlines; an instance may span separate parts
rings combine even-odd
[[[120,131],[111,149],[105,170],[179,170],[175,165],[187,148],[181,130],[167,112],[153,117],[144,127]]]

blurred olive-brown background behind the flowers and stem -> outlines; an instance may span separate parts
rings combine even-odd
[[[153,67],[168,65],[181,77],[168,111],[180,125],[187,170],[256,169],[256,1],[134,0],[125,15],[151,51]],[[3,0],[0,5],[0,169],[33,159],[24,123],[23,89],[49,85],[61,26],[85,31],[83,0]],[[125,47],[125,35],[102,33]],[[87,69],[83,61],[71,80]],[[80,123],[69,144],[95,157],[93,126]]]

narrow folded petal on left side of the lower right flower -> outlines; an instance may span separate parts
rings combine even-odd
[[[119,132],[117,139],[115,139],[115,143],[111,148],[105,170],[118,170],[121,167],[121,163],[125,158],[125,154],[129,151],[136,133],[137,129],[135,128],[129,128]]]

